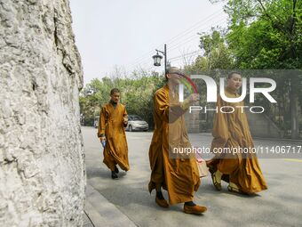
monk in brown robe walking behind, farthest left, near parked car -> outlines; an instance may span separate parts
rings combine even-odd
[[[128,124],[128,115],[125,106],[119,103],[120,91],[114,88],[110,92],[111,100],[99,113],[98,137],[100,142],[106,142],[103,162],[111,170],[112,179],[118,178],[120,166],[128,171],[128,146],[124,127]]]

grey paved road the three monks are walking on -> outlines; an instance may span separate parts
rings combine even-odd
[[[182,204],[169,209],[157,207],[155,191],[152,195],[147,191],[150,177],[148,148],[152,133],[127,132],[131,170],[119,174],[118,180],[112,180],[107,166],[102,163],[97,130],[82,127],[82,131],[87,182],[137,226],[302,226],[301,159],[259,159],[268,190],[253,197],[230,193],[227,184],[223,184],[223,191],[215,191],[211,176],[207,176],[195,193],[195,202],[208,207],[208,212],[187,215],[182,212]],[[203,144],[211,143],[208,134],[198,136]],[[255,145],[280,143],[255,140]],[[286,145],[297,145],[297,142],[286,142]],[[167,194],[164,196],[168,198]]]

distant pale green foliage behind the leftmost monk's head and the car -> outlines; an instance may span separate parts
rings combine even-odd
[[[144,70],[133,72],[131,77],[122,77],[117,73],[114,77],[91,80],[91,83],[84,87],[80,97],[85,125],[92,125],[93,119],[99,116],[101,106],[110,100],[111,89],[116,87],[121,91],[121,103],[126,105],[128,114],[145,118],[152,127],[153,95],[163,83],[163,77]]]

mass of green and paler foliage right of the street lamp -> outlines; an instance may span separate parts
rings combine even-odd
[[[301,1],[222,2],[226,2],[228,28],[226,31],[213,28],[210,34],[201,34],[203,56],[198,56],[194,64],[187,66],[189,73],[210,72],[210,69],[302,69]],[[298,109],[302,104],[301,72],[278,71],[270,77],[277,84],[274,97],[278,103],[270,105],[261,98],[257,99],[257,103],[266,106],[266,114],[284,132],[290,132],[292,138],[298,138],[299,122],[302,125],[301,108]]]

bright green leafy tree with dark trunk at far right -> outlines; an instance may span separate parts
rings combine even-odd
[[[301,1],[228,0],[225,11],[229,17],[227,44],[234,54],[235,68],[302,68]],[[274,79],[282,82],[289,93],[291,138],[298,138],[301,77],[293,73],[287,78],[275,76]]]

